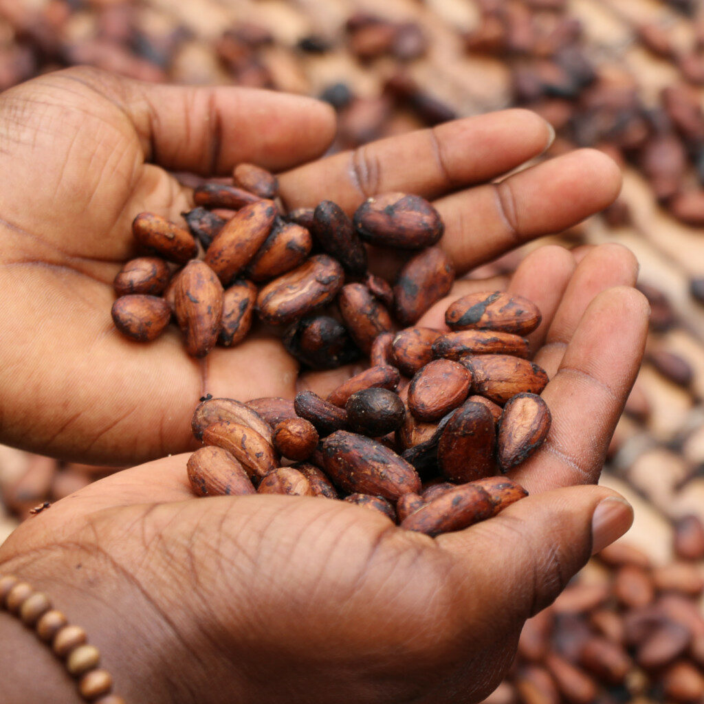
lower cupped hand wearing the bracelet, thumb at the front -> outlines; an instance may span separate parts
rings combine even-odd
[[[508,281],[456,284],[508,287],[543,310],[531,341],[551,375],[553,426],[513,472],[530,496],[497,517],[430,539],[327,498],[193,498],[176,455],[27,520],[0,548],[0,574],[84,626],[128,701],[477,701],[505,675],[524,621],[631,522],[609,489],[571,485],[596,482],[638,368],[648,305],[636,270],[619,246],[549,246]],[[444,306],[423,322],[439,325]],[[11,703],[46,691],[11,679]]]

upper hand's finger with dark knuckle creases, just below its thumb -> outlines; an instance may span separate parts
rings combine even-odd
[[[352,213],[377,193],[432,199],[490,180],[538,156],[553,137],[535,113],[506,110],[381,139],[282,174],[279,184],[289,208],[329,199]]]

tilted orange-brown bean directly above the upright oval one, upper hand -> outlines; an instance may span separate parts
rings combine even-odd
[[[204,260],[222,284],[229,284],[249,264],[269,236],[275,216],[273,201],[257,201],[238,210],[234,218],[222,226]]]

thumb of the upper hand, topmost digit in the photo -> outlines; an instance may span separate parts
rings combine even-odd
[[[227,174],[241,161],[280,170],[313,159],[334,137],[334,111],[311,98],[231,86],[152,84],[92,68],[57,75],[87,84],[125,111],[146,161]]]

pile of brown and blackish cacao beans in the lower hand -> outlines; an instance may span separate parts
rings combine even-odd
[[[527,460],[550,429],[538,395],[548,377],[526,359],[528,341],[518,334],[539,325],[539,310],[523,298],[478,293],[453,302],[445,319],[453,332],[379,332],[369,344],[372,366],[325,399],[313,391],[246,404],[203,398],[192,427],[206,446],[188,462],[195,493],[341,493],[432,536],[527,496],[498,472]],[[350,328],[355,339],[369,327],[362,322]]]

